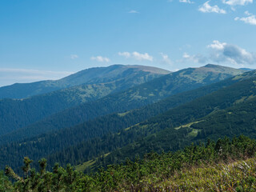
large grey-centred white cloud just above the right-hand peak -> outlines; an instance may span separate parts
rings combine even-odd
[[[250,53],[239,46],[214,41],[207,47],[210,48],[210,60],[214,62],[230,62],[235,65],[256,63],[256,53]]]

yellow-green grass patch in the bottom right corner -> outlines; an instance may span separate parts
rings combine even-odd
[[[159,191],[255,191],[255,161],[250,158],[229,164],[186,168],[154,188]]]

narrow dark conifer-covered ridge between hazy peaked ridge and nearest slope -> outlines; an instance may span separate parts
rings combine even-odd
[[[2,159],[3,164],[5,164],[4,162],[9,162],[11,163],[10,165],[18,167],[21,165],[17,163],[21,163],[22,157],[27,155],[37,160],[49,154],[54,154],[59,150],[64,150],[66,147],[73,146],[79,142],[100,138],[104,134],[118,132],[138,122],[143,122],[147,118],[170,110],[175,106],[190,102],[195,98],[200,98],[223,87],[230,86],[235,82],[238,82],[238,80],[229,78],[196,90],[189,90],[181,94],[172,95],[169,98],[144,106],[141,109],[130,110],[123,114],[109,114],[84,122],[78,126],[38,135],[38,137],[27,138],[20,142],[10,143],[14,138],[2,138],[2,148],[6,148],[6,150],[2,150],[0,159]],[[3,145],[4,143],[8,144]],[[122,143],[122,145],[125,144],[126,142]],[[90,144],[88,144],[88,147],[90,147]],[[94,156],[95,155],[97,156],[97,154],[94,154]]]

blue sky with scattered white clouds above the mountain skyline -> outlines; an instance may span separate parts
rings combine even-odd
[[[255,0],[0,0],[0,86],[90,67],[256,69]]]

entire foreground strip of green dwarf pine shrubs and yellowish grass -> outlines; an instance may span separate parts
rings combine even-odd
[[[6,166],[0,172],[0,191],[255,191],[256,141],[239,138],[208,140],[184,150],[145,154],[134,162],[111,165],[94,174],[82,174],[70,165],[55,164],[46,171],[46,159],[38,172],[24,158],[23,175]]]

